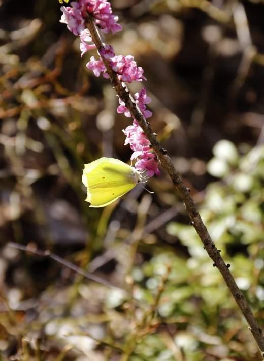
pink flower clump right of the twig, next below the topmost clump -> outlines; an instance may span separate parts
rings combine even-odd
[[[121,81],[131,83],[133,80],[147,80],[143,75],[144,70],[141,67],[138,67],[137,63],[134,61],[134,56],[116,55],[111,58],[110,65],[118,74]]]

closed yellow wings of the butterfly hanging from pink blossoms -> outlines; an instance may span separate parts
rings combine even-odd
[[[87,187],[90,207],[104,207],[133,189],[134,168],[114,158],[100,158],[85,164],[82,181]]]

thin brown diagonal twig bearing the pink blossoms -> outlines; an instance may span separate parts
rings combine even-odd
[[[101,35],[99,35],[98,33],[97,27],[94,25],[92,17],[89,16],[88,14],[87,14],[86,25],[90,31],[92,40],[96,45],[98,51],[102,50],[105,47],[105,44],[102,41]],[[213,240],[211,239],[210,234],[208,233],[207,228],[204,225],[199,212],[197,211],[197,208],[194,204],[193,198],[191,197],[189,190],[187,189],[187,187],[184,186],[182,179],[179,176],[178,172],[176,171],[171,161],[171,158],[167,155],[166,150],[163,149],[160,143],[158,142],[156,135],[153,133],[150,127],[150,123],[146,122],[146,119],[141,114],[140,110],[135,104],[133,97],[131,97],[129,91],[122,85],[117,74],[111,68],[109,60],[104,57],[102,57],[102,60],[106,66],[111,82],[119,98],[125,103],[125,106],[128,108],[131,117],[133,119],[136,119],[136,121],[139,123],[139,125],[145,132],[146,136],[148,137],[152,145],[154,152],[156,153],[160,161],[160,164],[171,177],[173,185],[177,189],[178,194],[180,195],[182,201],[185,204],[186,210],[191,219],[191,224],[193,225],[197,234],[201,238],[209,257],[213,260],[214,262],[213,265],[219,269],[227,287],[232,293],[236,303],[238,304],[239,308],[241,309],[244,317],[246,318],[249,324],[249,329],[251,330],[254,339],[256,340],[260,350],[262,351],[262,356],[264,356],[264,337],[262,334],[262,330],[258,326],[243,293],[238,288],[232,274],[229,271],[230,265],[225,264],[223,258],[220,255],[220,250],[216,248]]]

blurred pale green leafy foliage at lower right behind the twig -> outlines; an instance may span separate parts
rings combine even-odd
[[[217,248],[231,264],[240,289],[253,310],[258,310],[256,316],[261,324],[260,310],[264,307],[264,147],[253,148],[239,157],[236,147],[228,143],[221,141],[216,144],[214,154],[226,162],[229,170],[221,181],[207,187],[199,208]],[[227,155],[222,153],[223,145],[229,146],[232,157],[229,152]],[[170,264],[157,317],[167,327],[174,325],[177,328],[173,333],[174,343],[180,347],[182,355],[187,360],[202,360],[201,348],[205,348],[212,354],[218,350],[222,357],[232,354],[239,357],[239,347],[235,347],[232,340],[239,342],[247,327],[241,322],[234,300],[220,273],[212,266],[201,240],[192,226],[179,222],[169,223],[167,232],[186,247],[188,256],[183,258],[177,248],[174,252],[155,249],[156,254],[151,260],[132,272],[139,287],[134,295],[146,302],[150,302],[150,294],[155,298],[160,277],[166,272],[166,265]],[[229,333],[234,336],[229,338]],[[147,336],[138,344],[131,360],[172,359],[168,348],[162,346],[163,339],[162,333]],[[230,353],[231,349],[233,352]],[[247,353],[246,359],[250,359],[251,352],[245,345],[243,353],[244,356]]]

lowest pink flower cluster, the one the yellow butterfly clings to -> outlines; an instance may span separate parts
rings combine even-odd
[[[131,159],[137,159],[135,168],[141,172],[146,172],[148,177],[154,174],[160,175],[158,169],[158,159],[155,154],[151,153],[151,146],[146,134],[139,126],[137,121],[133,121],[133,125],[126,127],[123,132],[126,135],[125,144],[130,144],[130,148],[134,151]]]

